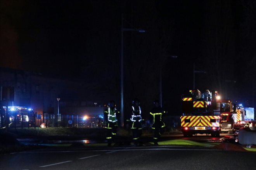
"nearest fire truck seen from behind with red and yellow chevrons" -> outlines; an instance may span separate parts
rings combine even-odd
[[[213,96],[212,96],[213,94]],[[220,107],[216,103],[217,91],[204,93],[190,90],[182,96],[183,115],[181,129],[185,137],[193,134],[211,134],[220,136]]]

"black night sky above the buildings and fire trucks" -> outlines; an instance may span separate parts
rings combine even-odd
[[[163,105],[180,114],[193,63],[207,72],[195,74],[195,88],[254,106],[255,7],[250,0],[1,0],[0,66],[81,81],[95,91],[88,100],[118,103],[123,14],[125,28],[146,30],[124,32],[126,106],[134,97],[152,106],[161,67]]]

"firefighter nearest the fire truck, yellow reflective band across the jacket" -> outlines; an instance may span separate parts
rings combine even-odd
[[[162,121],[162,115],[163,115],[163,109],[160,107],[159,101],[154,101],[154,108],[150,111],[151,120],[153,120],[152,129],[154,130],[154,144],[158,145],[158,139],[161,136],[161,133],[163,133],[165,124]]]

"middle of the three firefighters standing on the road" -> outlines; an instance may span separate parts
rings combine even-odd
[[[142,117],[140,101],[137,98],[132,101],[130,122],[133,134],[133,143],[135,146],[138,146],[139,138],[142,135]]]

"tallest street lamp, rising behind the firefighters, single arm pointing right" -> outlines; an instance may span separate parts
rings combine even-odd
[[[137,31],[139,33],[145,33],[145,30],[142,29],[133,29],[133,28],[124,28],[124,15],[122,14],[122,23],[121,23],[121,126],[124,125],[124,40],[123,34],[124,31]]]

